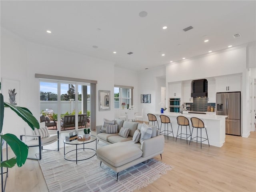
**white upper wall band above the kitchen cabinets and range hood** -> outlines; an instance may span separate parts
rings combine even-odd
[[[166,82],[242,73],[246,70],[246,47],[174,62],[166,66]]]

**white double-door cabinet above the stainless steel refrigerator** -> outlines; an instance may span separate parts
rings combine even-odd
[[[241,91],[241,76],[216,78],[216,92]]]

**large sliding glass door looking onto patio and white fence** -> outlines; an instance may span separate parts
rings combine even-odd
[[[90,83],[40,80],[40,112],[56,122],[59,131],[90,127]]]

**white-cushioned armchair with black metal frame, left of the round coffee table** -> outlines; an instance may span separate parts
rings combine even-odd
[[[40,129],[42,129],[41,126],[40,126]],[[47,127],[46,127],[46,129],[47,129]],[[42,134],[20,135],[20,140],[22,140],[29,148],[39,147],[39,158],[28,157],[28,159],[40,160],[42,158],[42,150],[52,150],[52,149],[43,149],[43,146],[52,144],[54,142],[57,142],[58,147],[56,150],[52,150],[52,151],[59,151],[59,149],[60,149],[59,131],[58,130],[47,130],[47,132],[48,132],[48,134],[47,134],[48,136],[42,135]],[[38,131],[38,133],[40,133],[40,131]],[[44,134],[45,134],[45,132],[44,132]]]

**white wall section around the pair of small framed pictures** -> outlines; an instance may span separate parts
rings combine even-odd
[[[165,86],[159,77],[165,76],[165,67],[143,70],[138,73],[138,111],[144,109],[143,120],[148,121],[148,113],[160,111],[161,86]],[[141,94],[151,94],[151,103],[140,103]]]

